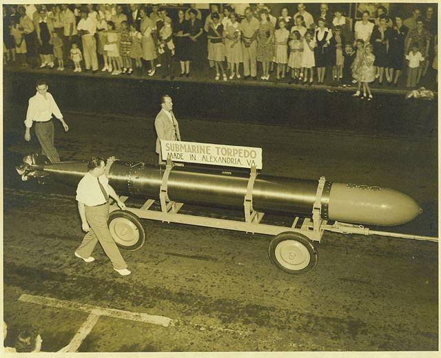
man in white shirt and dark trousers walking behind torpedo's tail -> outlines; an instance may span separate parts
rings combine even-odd
[[[69,130],[69,126],[63,119],[60,109],[55,103],[54,98],[48,93],[48,84],[44,81],[37,82],[37,94],[29,99],[28,113],[25,120],[25,140],[30,141],[30,129],[32,122],[35,123],[35,134],[41,145],[41,152],[49,158],[51,162],[59,162],[60,157],[54,147],[54,123],[52,114],[57,117],[63,125],[64,131]]]

